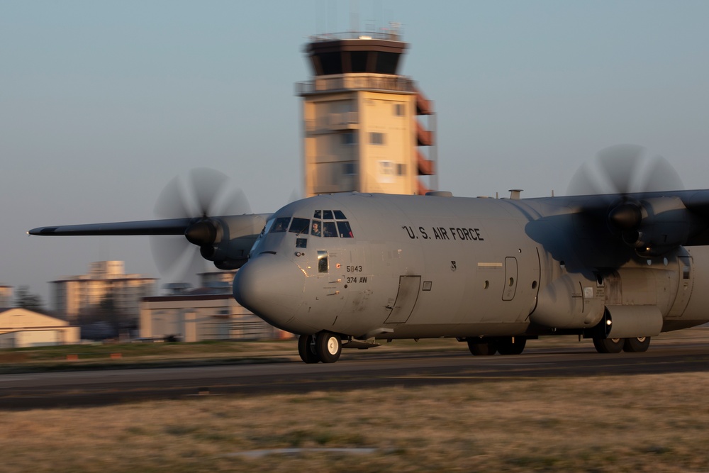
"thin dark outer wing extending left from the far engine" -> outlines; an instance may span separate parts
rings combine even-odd
[[[87,225],[62,225],[38,227],[28,231],[30,235],[77,236],[77,235],[184,235],[199,218],[169,218],[134,222],[90,223]]]

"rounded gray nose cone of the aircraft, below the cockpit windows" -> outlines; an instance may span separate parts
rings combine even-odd
[[[234,277],[234,299],[271,325],[286,325],[303,301],[306,277],[294,262],[270,253],[247,262]]]

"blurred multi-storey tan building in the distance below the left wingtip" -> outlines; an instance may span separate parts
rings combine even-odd
[[[89,274],[51,282],[53,307],[57,316],[76,323],[82,311],[94,310],[110,297],[117,312],[137,320],[140,300],[155,294],[156,282],[144,274],[125,274],[123,261],[92,262]]]

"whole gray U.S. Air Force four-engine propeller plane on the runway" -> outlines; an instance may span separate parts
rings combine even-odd
[[[235,299],[300,335],[306,363],[403,338],[517,355],[529,339],[577,335],[601,353],[644,352],[654,335],[709,321],[709,190],[660,189],[679,177],[642,156],[604,150],[595,177],[582,167],[572,179],[582,195],[330,194],[273,214],[29,233],[184,235],[216,267],[240,268]]]

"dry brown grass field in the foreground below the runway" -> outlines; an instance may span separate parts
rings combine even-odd
[[[0,471],[709,471],[708,373],[366,384],[7,411]]]

